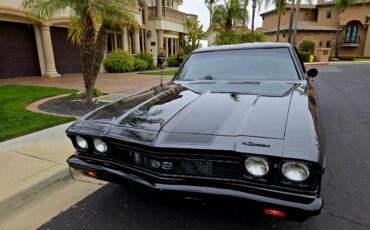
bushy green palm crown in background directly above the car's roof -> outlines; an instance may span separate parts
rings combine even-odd
[[[239,0],[225,0],[224,4],[216,5],[213,11],[212,24],[231,31],[236,23],[242,23],[245,13]]]

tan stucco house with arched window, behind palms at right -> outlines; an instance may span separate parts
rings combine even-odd
[[[291,5],[281,16],[280,41],[288,42],[289,19]],[[297,46],[303,40],[311,40],[318,48],[332,48],[337,31],[338,10],[334,1],[318,0],[317,4],[302,4],[297,29]],[[263,18],[262,32],[268,41],[276,41],[278,15],[274,10],[261,14]],[[341,26],[340,55],[370,56],[370,0],[357,3],[344,11]]]

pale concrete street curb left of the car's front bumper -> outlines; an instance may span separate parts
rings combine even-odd
[[[15,188],[17,191],[12,191],[12,194],[0,198],[0,220],[38,199],[51,186],[72,180],[72,172],[68,166],[56,164],[32,178],[32,181],[24,181],[18,185]]]

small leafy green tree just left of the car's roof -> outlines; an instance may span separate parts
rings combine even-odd
[[[199,25],[199,21],[196,19],[189,18],[186,20],[186,29],[188,31],[186,43],[191,46],[191,51],[193,51],[199,47],[200,40],[205,37],[203,26]]]

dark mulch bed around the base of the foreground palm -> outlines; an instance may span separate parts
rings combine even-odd
[[[81,98],[65,96],[44,102],[38,106],[38,109],[49,113],[83,116],[102,105],[104,104],[97,102],[89,106]]]

